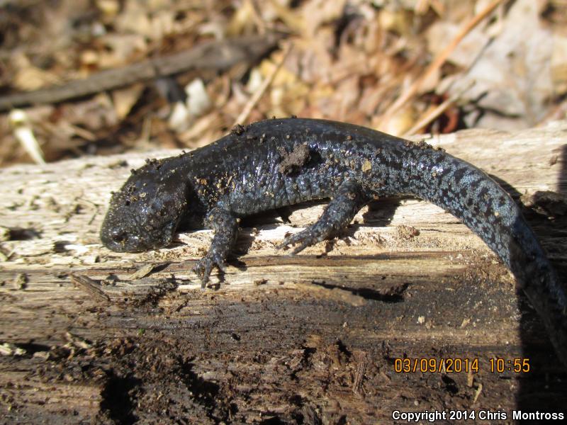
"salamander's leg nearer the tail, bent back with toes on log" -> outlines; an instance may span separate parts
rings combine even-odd
[[[337,232],[347,227],[354,215],[357,215],[357,212],[369,200],[358,183],[345,181],[339,187],[335,197],[327,205],[319,220],[307,229],[283,239],[283,243],[278,248],[299,244],[291,252],[291,254],[297,254],[308,246],[335,236]]]

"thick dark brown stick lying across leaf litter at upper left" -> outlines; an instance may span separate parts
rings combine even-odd
[[[61,86],[0,97],[0,111],[20,106],[67,101],[189,70],[222,71],[238,62],[254,62],[274,47],[277,39],[275,35],[266,35],[203,42],[175,55],[155,57],[122,68],[107,69],[86,79],[69,81]]]

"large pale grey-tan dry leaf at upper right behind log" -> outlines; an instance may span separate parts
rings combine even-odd
[[[527,128],[541,120],[554,93],[551,81],[551,33],[539,23],[532,0],[517,0],[505,16],[503,31],[473,67],[451,86],[461,98],[477,100],[486,113],[476,125],[501,130]]]

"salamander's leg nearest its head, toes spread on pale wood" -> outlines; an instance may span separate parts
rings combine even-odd
[[[213,208],[207,215],[207,221],[215,231],[215,236],[206,256],[193,267],[193,271],[201,278],[201,288],[205,288],[214,266],[226,271],[226,257],[234,246],[238,234],[237,218],[228,210]]]

